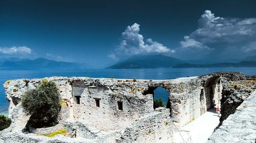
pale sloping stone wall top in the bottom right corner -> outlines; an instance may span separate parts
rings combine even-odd
[[[214,142],[255,142],[256,141],[256,92],[253,92],[238,106],[222,125],[209,137]]]

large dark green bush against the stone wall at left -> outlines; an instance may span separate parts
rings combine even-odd
[[[42,83],[23,95],[22,105],[30,117],[30,123],[36,127],[51,126],[57,123],[60,109],[58,88],[53,81]]]

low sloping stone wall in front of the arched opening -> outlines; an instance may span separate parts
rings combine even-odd
[[[172,142],[172,134],[169,109],[159,107],[127,126],[117,142]]]

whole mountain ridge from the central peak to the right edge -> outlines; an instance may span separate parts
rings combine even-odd
[[[201,61],[201,62],[198,62]],[[222,60],[223,61],[223,60]],[[229,61],[229,60],[227,60]],[[155,55],[133,55],[130,58],[121,61],[112,66],[106,67],[107,69],[143,69],[143,68],[202,68],[202,67],[256,67],[256,55],[246,56],[244,59],[233,62],[220,62],[220,63],[204,63],[202,60],[184,61],[181,59],[165,56],[161,54]],[[199,64],[200,63],[200,64]]]

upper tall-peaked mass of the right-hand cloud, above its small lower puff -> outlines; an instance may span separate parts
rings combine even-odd
[[[256,36],[256,18],[216,17],[206,10],[198,20],[199,28],[189,37],[205,43],[237,43]]]

